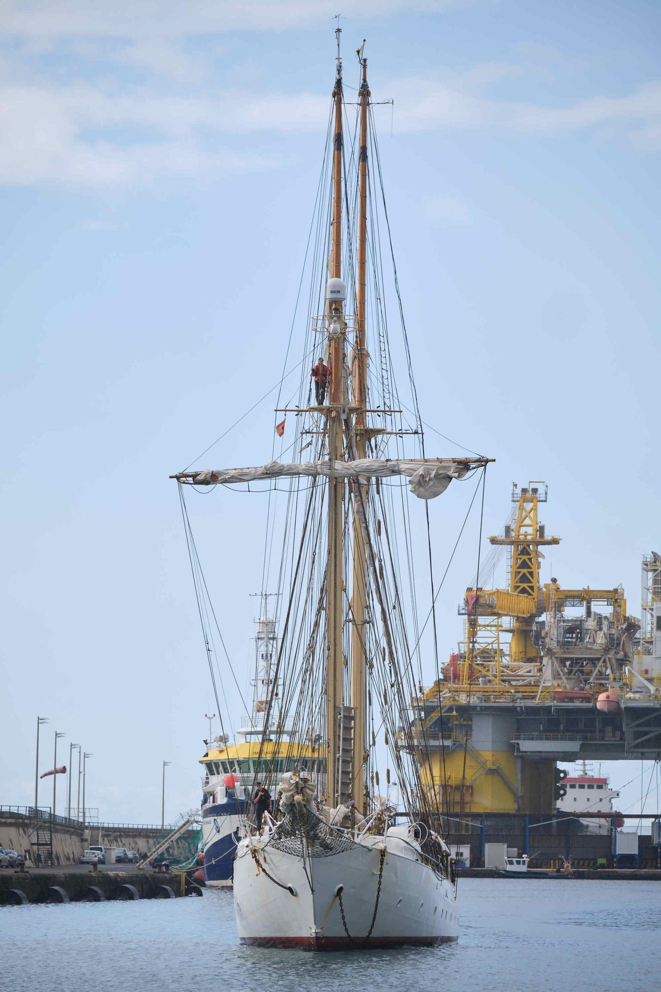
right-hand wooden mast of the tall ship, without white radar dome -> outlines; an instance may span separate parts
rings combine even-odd
[[[355,300],[354,357],[351,376],[355,414],[355,457],[366,456],[365,432],[367,352],[365,349],[365,302],[367,296],[367,60],[362,60],[360,104],[360,149],[358,154],[358,258]],[[353,586],[351,592],[351,705],[353,706],[353,795],[358,812],[364,812],[365,752],[365,538],[364,511],[367,486],[353,486]]]

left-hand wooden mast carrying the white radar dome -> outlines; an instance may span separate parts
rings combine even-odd
[[[341,278],[342,238],[342,66],[339,58],[339,27],[335,30],[337,60],[333,98],[335,101],[335,130],[332,153],[332,278]],[[329,328],[334,323],[337,331],[331,340],[331,396],[328,407],[329,458],[342,459],[341,377],[343,366],[344,327],[339,301],[328,304]],[[334,320],[333,320],[334,318]],[[329,480],[329,569],[327,575],[326,618],[329,637],[328,666],[328,796],[330,806],[336,806],[338,795],[338,714],[342,705],[342,479]]]

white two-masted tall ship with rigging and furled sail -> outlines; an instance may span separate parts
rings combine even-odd
[[[488,460],[425,454],[394,258],[394,290],[384,285],[381,243],[392,249],[367,62],[360,49],[357,103],[350,90],[345,104],[336,37],[303,373],[296,402],[276,410],[293,460],[174,476],[183,499],[189,485],[216,486],[221,500],[224,485],[272,491],[265,560],[282,596],[280,641],[246,774],[277,802],[241,817],[234,906],[242,941],[313,950],[458,939],[442,794],[409,706],[436,591],[424,501]],[[280,306],[269,320],[286,342]],[[401,391],[394,354],[407,372]],[[430,622],[429,652],[432,631]]]

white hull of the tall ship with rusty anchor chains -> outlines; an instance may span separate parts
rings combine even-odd
[[[339,853],[307,858],[304,865],[300,856],[276,850],[261,838],[243,840],[234,862],[234,910],[241,941],[346,950],[457,940],[454,885],[418,860],[412,848],[396,853],[407,845],[395,837],[388,837],[374,919],[382,846],[382,837],[369,836]]]

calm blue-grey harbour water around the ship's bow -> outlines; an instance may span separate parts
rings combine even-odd
[[[12,992],[416,989],[656,992],[661,886],[461,879],[457,944],[315,954],[241,947],[231,892],[202,899],[0,909]]]

